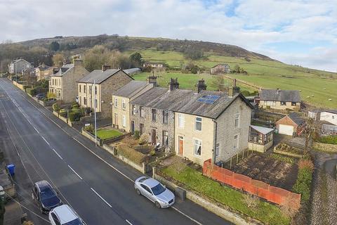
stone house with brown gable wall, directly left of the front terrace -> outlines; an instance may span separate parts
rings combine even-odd
[[[77,81],[79,105],[91,110],[95,108],[100,118],[111,118],[112,93],[132,80],[123,70],[103,65],[102,70],[93,70]]]

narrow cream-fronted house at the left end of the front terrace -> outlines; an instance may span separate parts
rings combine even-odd
[[[131,81],[112,94],[112,127],[134,133],[136,127],[131,122],[130,102],[152,89],[153,84]]]

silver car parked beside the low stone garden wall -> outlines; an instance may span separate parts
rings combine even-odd
[[[135,189],[138,195],[144,195],[158,208],[170,207],[175,202],[174,194],[169,189],[147,176],[136,179]]]

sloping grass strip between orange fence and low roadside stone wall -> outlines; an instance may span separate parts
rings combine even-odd
[[[242,212],[242,214],[256,218],[264,224],[290,224],[290,219],[282,214],[279,207],[258,200],[256,208],[249,208],[244,203],[244,193],[227,186],[221,186],[218,182],[206,178],[195,169],[186,167],[183,172],[178,174],[172,167],[166,167],[162,172],[185,184],[187,188],[227,205],[233,210]]]

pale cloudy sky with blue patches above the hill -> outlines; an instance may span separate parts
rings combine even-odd
[[[216,41],[337,71],[337,0],[0,0],[0,41],[98,34]]]

